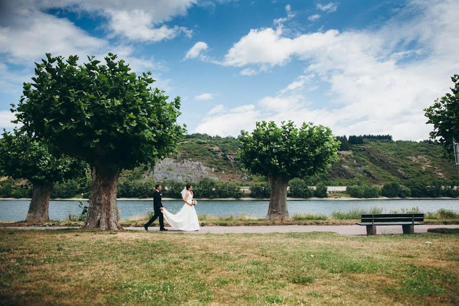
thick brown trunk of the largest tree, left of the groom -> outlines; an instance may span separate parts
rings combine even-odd
[[[118,223],[118,207],[116,206],[120,169],[100,164],[91,165],[91,168],[92,182],[88,217],[83,228],[120,231],[123,228]]]

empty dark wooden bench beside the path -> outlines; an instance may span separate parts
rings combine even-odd
[[[403,234],[414,234],[414,226],[424,222],[424,214],[366,214],[362,222],[367,226],[367,235],[376,235],[376,225],[401,225]]]

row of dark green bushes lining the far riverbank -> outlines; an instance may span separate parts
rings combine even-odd
[[[72,198],[88,197],[90,178],[79,180],[67,180],[57,183],[51,193],[51,198]],[[181,191],[186,183],[177,181],[156,182],[152,179],[146,180],[128,180],[118,184],[118,197],[125,198],[151,198],[155,192],[155,185],[161,184],[162,196],[167,198],[181,198]],[[244,192],[236,183],[221,182],[212,179],[202,179],[193,183],[193,192],[196,198],[241,198]],[[12,179],[0,183],[0,197],[2,198],[30,198],[32,197],[33,188],[30,185],[15,186]],[[391,182],[382,188],[368,185],[357,184],[350,185],[346,188],[346,193],[355,198],[375,198],[379,196],[386,197],[459,197],[459,189],[453,186],[453,183],[443,181],[424,182],[410,180],[403,184]],[[250,186],[249,197],[269,198],[269,184],[256,183]],[[310,197],[327,197],[327,186],[319,183],[315,188],[309,186],[308,181],[302,179],[293,179],[289,182],[289,197],[310,198]]]

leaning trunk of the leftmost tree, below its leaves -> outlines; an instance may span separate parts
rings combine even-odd
[[[34,184],[34,193],[32,194],[25,222],[38,223],[49,221],[49,195],[52,189],[53,184]]]

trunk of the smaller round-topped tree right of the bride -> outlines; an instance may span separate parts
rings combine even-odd
[[[287,209],[287,186],[290,178],[285,175],[268,175],[271,197],[267,220],[290,220]]]

